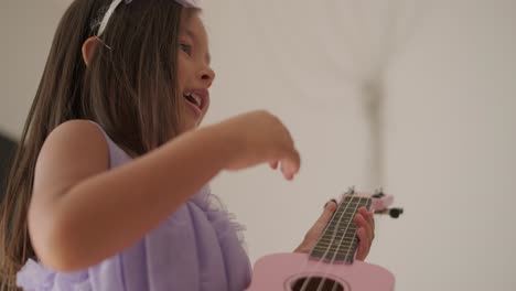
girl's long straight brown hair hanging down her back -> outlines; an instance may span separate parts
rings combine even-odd
[[[35,258],[26,214],[34,166],[49,133],[72,119],[98,122],[121,148],[141,155],[175,137],[178,34],[183,9],[172,0],[121,3],[88,67],[82,45],[98,30],[111,0],[75,0],[63,15],[24,126],[0,208],[0,291]],[[107,47],[107,45],[109,47]]]

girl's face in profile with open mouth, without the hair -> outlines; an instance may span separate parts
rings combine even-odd
[[[183,15],[186,13],[183,13]],[[196,128],[209,107],[215,73],[209,67],[207,34],[197,13],[183,17],[179,35],[178,84],[184,101],[181,132]]]

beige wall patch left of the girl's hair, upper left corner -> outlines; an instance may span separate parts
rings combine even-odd
[[[0,0],[0,132],[20,134],[64,0]]]

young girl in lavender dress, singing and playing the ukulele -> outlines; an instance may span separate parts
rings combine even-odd
[[[193,0],[75,0],[57,29],[1,215],[1,290],[244,290],[249,260],[206,184],[300,158],[265,111],[197,129],[207,36]],[[308,251],[335,204],[309,230]],[[372,213],[355,217],[364,259]]]

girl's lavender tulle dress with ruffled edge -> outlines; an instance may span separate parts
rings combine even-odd
[[[109,137],[110,168],[131,158]],[[29,260],[17,283],[29,291],[241,291],[250,263],[230,220],[206,186],[135,246],[74,273]]]

